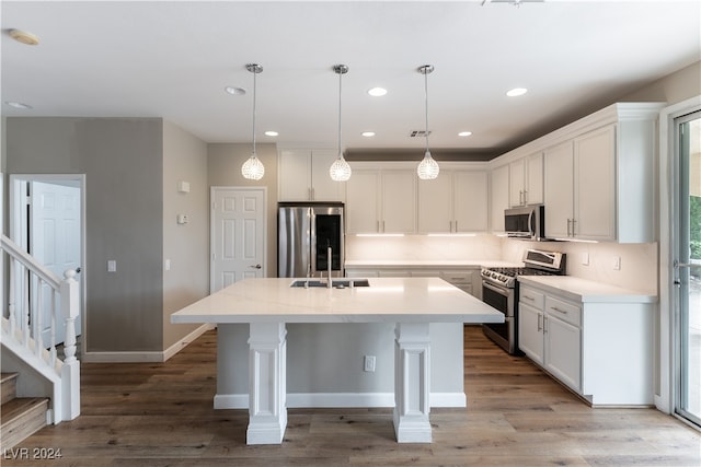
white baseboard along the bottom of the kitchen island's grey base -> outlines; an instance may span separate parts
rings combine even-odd
[[[467,407],[464,393],[432,393],[430,407]],[[215,409],[248,409],[248,394],[217,394]],[[291,393],[287,395],[287,407],[337,408],[337,407],[394,407],[394,393]]]

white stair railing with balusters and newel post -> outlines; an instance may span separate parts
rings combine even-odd
[[[16,350],[15,354],[25,364],[39,373],[49,373],[55,383],[51,421],[72,420],[80,415],[80,362],[76,358],[76,318],[80,311],[77,271],[69,269],[60,279],[5,235],[0,238],[3,258],[9,258],[8,315],[2,316],[2,340]],[[45,318],[49,320],[49,342],[46,345]],[[59,324],[65,331],[62,360],[55,345]]]

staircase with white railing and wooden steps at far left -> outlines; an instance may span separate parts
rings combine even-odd
[[[9,271],[0,283],[0,303],[7,303],[0,316],[0,366],[5,372],[0,445],[9,450],[47,423],[80,415],[80,305],[74,270],[59,278],[2,234],[0,254],[0,268]],[[61,354],[55,345],[59,325],[65,330]]]

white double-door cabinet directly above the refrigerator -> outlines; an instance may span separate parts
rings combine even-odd
[[[343,201],[345,182],[334,182],[329,167],[337,157],[333,150],[281,150],[280,201]]]

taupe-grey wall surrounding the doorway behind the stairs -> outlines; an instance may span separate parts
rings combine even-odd
[[[85,352],[163,349],[162,129],[160,118],[7,120],[7,175],[85,174]]]

